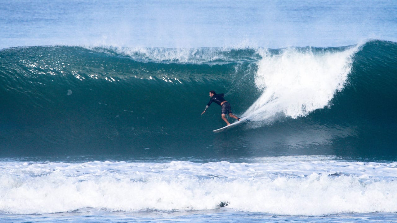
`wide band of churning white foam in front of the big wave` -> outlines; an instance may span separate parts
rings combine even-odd
[[[0,211],[208,210],[281,215],[397,211],[397,163],[0,163]]]

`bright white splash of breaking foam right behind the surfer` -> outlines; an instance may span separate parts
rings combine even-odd
[[[286,48],[279,54],[261,50],[255,84],[263,92],[243,116],[253,121],[279,114],[297,118],[328,106],[345,86],[358,48],[339,52]]]

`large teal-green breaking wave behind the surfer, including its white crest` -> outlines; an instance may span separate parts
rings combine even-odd
[[[387,158],[397,142],[397,44],[335,48],[0,51],[0,155]],[[208,91],[247,121],[224,125]]]

